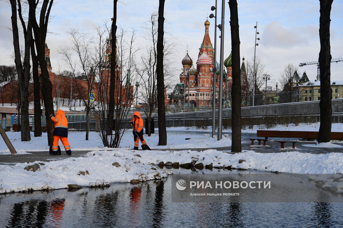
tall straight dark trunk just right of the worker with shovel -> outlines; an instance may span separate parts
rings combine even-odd
[[[158,105],[158,145],[167,145],[166,111],[164,106],[164,75],[163,75],[163,35],[164,35],[164,1],[159,0],[157,28],[157,105]]]

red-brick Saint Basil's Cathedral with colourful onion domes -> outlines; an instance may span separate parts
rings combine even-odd
[[[210,107],[212,106],[212,87],[213,87],[213,72],[210,71],[210,68],[214,66],[213,61],[213,46],[211,43],[209,35],[210,22],[206,19],[205,23],[205,35],[204,39],[199,48],[199,54],[197,59],[197,67],[193,66],[193,61],[188,55],[188,50],[186,56],[182,59],[181,63],[183,66],[182,73],[180,74],[180,83],[178,83],[174,91],[169,94],[169,101],[171,105],[187,103],[188,99],[190,104],[197,107]],[[223,78],[223,99],[230,100],[230,92],[232,86],[232,52],[224,61],[224,66],[226,67],[226,72],[224,68],[224,78]],[[248,79],[245,69],[245,63],[241,66],[241,87],[242,94],[241,96],[247,96],[248,91]],[[218,98],[219,92],[219,64],[216,63],[217,72],[216,72],[216,96]],[[184,89],[185,85],[185,89]],[[184,94],[184,90],[186,94]],[[189,92],[188,92],[189,90]],[[188,98],[189,93],[189,98]],[[228,94],[226,99],[226,93]],[[242,104],[243,105],[243,104]]]

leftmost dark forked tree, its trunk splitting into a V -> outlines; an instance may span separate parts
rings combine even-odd
[[[18,4],[18,5],[17,5]],[[31,51],[31,39],[32,39],[32,25],[31,17],[28,17],[27,24],[25,23],[22,15],[22,7],[20,0],[11,0],[12,8],[12,33],[13,33],[13,46],[14,46],[14,55],[15,55],[15,66],[17,69],[18,80],[19,80],[19,89],[21,94],[20,107],[21,107],[21,140],[22,141],[31,141],[30,129],[29,129],[29,118],[28,118],[28,85],[30,80],[30,51]],[[22,56],[20,53],[19,45],[19,31],[17,24],[17,12],[21,21],[21,26],[23,28],[24,40],[25,40],[25,51],[24,51],[24,61],[22,63]],[[18,111],[19,112],[19,111]]]

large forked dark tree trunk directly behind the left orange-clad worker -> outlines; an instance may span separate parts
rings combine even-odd
[[[44,0],[42,7],[40,9],[39,15],[39,25],[36,20],[36,2],[35,0],[28,0],[29,3],[29,15],[32,18],[32,27],[35,35],[35,43],[37,48],[37,56],[39,61],[39,66],[41,70],[40,81],[42,83],[42,97],[44,100],[45,106],[45,117],[46,117],[46,126],[48,133],[48,145],[52,145],[53,134],[52,134],[52,121],[50,119],[50,114],[54,114],[54,104],[52,102],[52,85],[49,78],[48,68],[45,62],[45,38],[48,27],[48,20],[50,15],[50,10],[54,0]]]

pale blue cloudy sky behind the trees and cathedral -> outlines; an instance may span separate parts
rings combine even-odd
[[[231,51],[229,6],[225,1],[224,22],[224,60]],[[166,0],[165,12],[169,26],[180,43],[175,79],[181,73],[181,59],[188,53],[194,62],[197,60],[199,48],[204,36],[206,16],[213,13],[211,6],[214,0]],[[121,0],[118,2],[117,25],[134,28],[140,35],[141,26],[149,13],[158,9],[157,0]],[[221,1],[218,1],[218,21],[221,19]],[[330,43],[332,58],[343,57],[343,0],[334,0],[331,10]],[[113,1],[92,0],[59,0],[56,1],[49,21],[46,42],[51,49],[51,64],[54,72],[61,66],[60,56],[56,53],[60,45],[68,42],[66,32],[70,28],[90,31],[92,24],[101,24],[113,16]],[[14,64],[9,58],[12,45],[11,9],[8,3],[0,1],[0,65]],[[252,60],[254,56],[255,28],[258,22],[258,41],[256,55],[262,59],[265,69],[276,82],[284,65],[318,61],[319,42],[319,1],[318,0],[238,0],[240,57]],[[214,18],[210,19],[210,37],[214,44]],[[220,31],[217,31],[217,60],[220,54]],[[144,46],[144,39],[138,42]],[[310,80],[317,75],[317,66],[308,65],[299,68],[299,75],[306,71]],[[343,80],[343,62],[331,63],[331,79]]]

